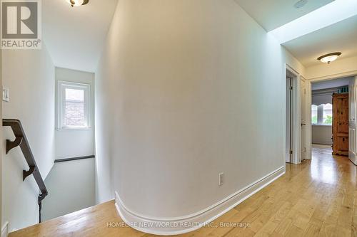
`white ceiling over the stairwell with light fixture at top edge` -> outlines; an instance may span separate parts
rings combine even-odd
[[[43,38],[56,67],[94,72],[118,0],[42,1]]]

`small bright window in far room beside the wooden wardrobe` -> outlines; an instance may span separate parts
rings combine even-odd
[[[311,105],[311,123],[313,125],[332,125],[332,105]]]

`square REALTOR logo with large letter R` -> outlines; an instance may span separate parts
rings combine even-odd
[[[1,0],[1,48],[41,48],[41,1]]]

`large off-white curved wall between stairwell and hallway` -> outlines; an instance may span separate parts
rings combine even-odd
[[[175,219],[283,169],[284,63],[303,73],[233,0],[119,1],[96,72],[97,201]]]

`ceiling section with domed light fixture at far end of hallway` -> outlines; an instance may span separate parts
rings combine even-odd
[[[326,53],[342,52],[338,59],[356,56],[357,16],[283,43],[283,46],[306,67],[321,63],[316,59]]]

